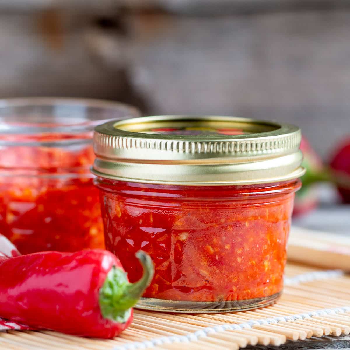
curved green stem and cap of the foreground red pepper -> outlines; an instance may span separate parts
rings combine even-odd
[[[127,274],[120,268],[112,267],[100,289],[99,305],[102,316],[119,323],[124,323],[131,315],[131,308],[151,282],[154,274],[153,262],[149,255],[139,250],[136,253],[144,273],[135,283],[127,280]]]

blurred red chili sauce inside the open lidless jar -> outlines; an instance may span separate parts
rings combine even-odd
[[[92,145],[88,140],[65,148],[40,145],[72,137],[30,135],[28,141],[37,146],[9,146],[0,152],[0,232],[22,254],[104,248],[99,194],[89,170]],[[91,139],[91,134],[79,138]]]

